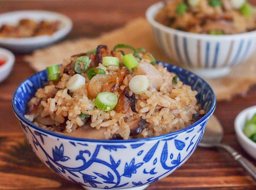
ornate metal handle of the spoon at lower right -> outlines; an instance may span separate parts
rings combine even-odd
[[[222,146],[220,146],[220,147],[227,150],[231,154],[231,156],[233,156],[233,158],[235,160],[237,160],[241,164],[241,166],[243,166],[244,169],[247,170],[251,174],[251,176],[254,178],[254,180],[256,181],[256,167],[254,166],[254,164],[252,164],[252,162],[250,162],[245,157],[243,157],[241,154],[239,154],[232,147],[230,147],[226,144],[221,144],[221,145]]]

